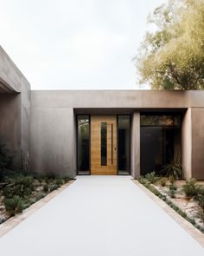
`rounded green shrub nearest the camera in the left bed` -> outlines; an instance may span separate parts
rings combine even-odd
[[[13,198],[5,198],[4,206],[6,211],[10,213],[11,216],[16,215],[16,213],[22,213],[23,200],[20,196],[15,195]]]

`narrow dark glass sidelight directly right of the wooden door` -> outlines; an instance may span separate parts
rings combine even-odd
[[[130,173],[130,115],[118,115],[118,174]]]

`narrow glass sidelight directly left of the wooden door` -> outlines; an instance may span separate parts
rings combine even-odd
[[[89,115],[77,115],[78,174],[89,174]]]

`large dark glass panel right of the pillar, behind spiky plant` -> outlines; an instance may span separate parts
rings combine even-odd
[[[174,154],[181,155],[180,115],[141,115],[141,174],[161,174]]]

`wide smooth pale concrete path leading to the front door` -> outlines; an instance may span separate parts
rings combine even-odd
[[[200,256],[130,176],[80,176],[0,240],[3,256]]]

